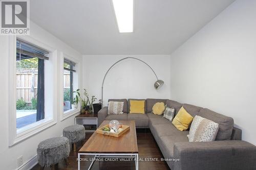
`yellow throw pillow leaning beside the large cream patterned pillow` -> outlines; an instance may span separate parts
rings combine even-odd
[[[191,116],[183,107],[180,108],[180,111],[173,119],[174,126],[180,130],[185,131],[188,129],[188,126],[193,120],[193,116]]]

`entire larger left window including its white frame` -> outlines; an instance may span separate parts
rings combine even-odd
[[[12,147],[57,123],[58,61],[55,48],[31,36],[8,39],[8,131]]]

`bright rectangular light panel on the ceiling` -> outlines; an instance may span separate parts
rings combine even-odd
[[[120,33],[133,32],[133,0],[112,0]]]

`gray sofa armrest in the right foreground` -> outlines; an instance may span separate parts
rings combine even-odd
[[[256,147],[242,140],[178,142],[174,157],[175,170],[256,169]]]

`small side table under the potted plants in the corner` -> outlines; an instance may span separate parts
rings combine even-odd
[[[75,117],[75,125],[83,125],[86,132],[95,132],[98,128],[98,114],[97,113],[83,113]],[[87,128],[87,126],[95,126],[95,128]]]

